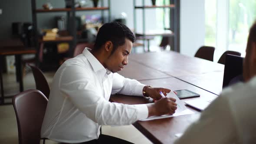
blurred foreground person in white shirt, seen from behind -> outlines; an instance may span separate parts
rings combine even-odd
[[[225,88],[175,144],[256,144],[256,23],[243,63],[245,83]]]

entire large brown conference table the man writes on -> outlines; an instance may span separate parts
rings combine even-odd
[[[148,52],[131,54],[128,65],[119,73],[146,85],[172,90],[188,89],[200,94],[199,98],[189,98],[192,100],[216,98],[222,89],[223,71],[224,65],[177,52]],[[152,102],[151,98],[126,95],[112,95],[110,100],[132,105]],[[195,114],[137,121],[133,125],[155,144],[172,144],[177,139],[175,134],[183,133],[200,116],[200,111],[190,106],[187,108]]]

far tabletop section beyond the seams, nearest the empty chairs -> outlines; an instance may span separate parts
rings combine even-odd
[[[175,77],[224,71],[224,65],[222,64],[181,55],[172,51],[132,53],[129,56],[129,61],[138,62]]]

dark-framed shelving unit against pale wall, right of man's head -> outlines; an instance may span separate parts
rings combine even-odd
[[[142,0],[142,6],[137,6],[136,5],[136,0],[133,0],[134,3],[134,31],[135,35],[138,37],[138,39],[143,39],[144,46],[146,45],[146,41],[148,40],[148,51],[149,51],[149,39],[152,39],[152,36],[167,36],[169,38],[169,42],[172,42],[170,44],[172,50],[179,52],[179,0],[170,0],[170,4],[166,5],[165,0],[163,0],[163,5],[161,6],[156,6],[156,5],[151,5],[151,6],[146,6],[145,5],[145,0]],[[165,26],[165,20],[163,21],[164,24],[164,29],[161,30],[154,30],[154,31],[146,31],[145,28],[145,9],[156,9],[156,8],[162,8],[164,9],[164,19],[165,15],[165,9],[170,9],[170,25],[169,28]],[[138,33],[136,30],[136,10],[142,10],[142,33]]]

